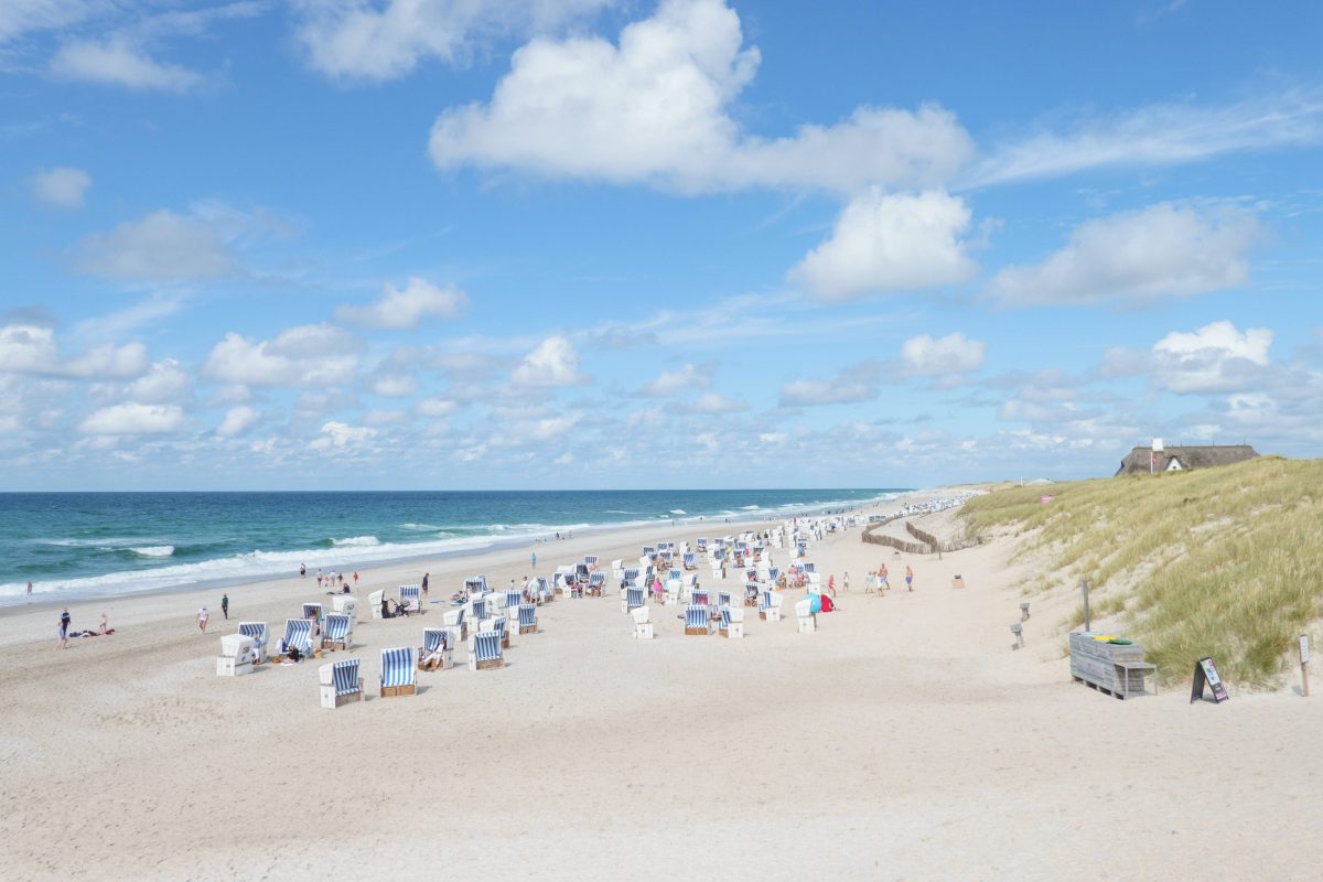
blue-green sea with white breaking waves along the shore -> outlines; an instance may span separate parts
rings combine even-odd
[[[848,510],[902,488],[0,493],[0,604],[79,600],[529,546],[648,524]]]

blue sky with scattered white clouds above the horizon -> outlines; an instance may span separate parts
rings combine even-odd
[[[0,489],[1323,443],[1323,5],[5,0]]]

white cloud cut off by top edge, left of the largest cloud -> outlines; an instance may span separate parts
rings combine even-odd
[[[540,33],[613,0],[298,0],[296,37],[314,70],[382,82],[419,62],[462,61],[482,37]]]

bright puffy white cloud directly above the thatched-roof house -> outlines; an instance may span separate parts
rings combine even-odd
[[[1192,333],[1174,331],[1154,344],[1154,380],[1175,393],[1241,391],[1267,368],[1273,332],[1213,321]]]

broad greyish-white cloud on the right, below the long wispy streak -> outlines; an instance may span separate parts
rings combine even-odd
[[[1007,267],[992,280],[1005,305],[1152,303],[1244,284],[1253,217],[1171,202],[1086,221],[1037,266]]]

